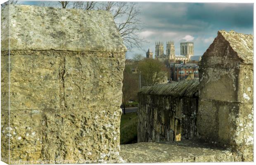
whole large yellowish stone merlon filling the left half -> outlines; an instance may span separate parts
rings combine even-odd
[[[118,159],[126,47],[113,16],[22,5],[1,14],[5,162]]]

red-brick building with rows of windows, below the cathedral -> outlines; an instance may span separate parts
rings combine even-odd
[[[171,80],[179,81],[198,78],[197,64],[171,64]]]

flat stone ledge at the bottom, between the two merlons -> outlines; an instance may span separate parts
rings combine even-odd
[[[126,163],[234,162],[232,152],[198,140],[121,145]]]

